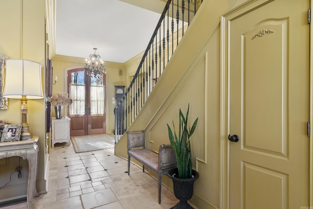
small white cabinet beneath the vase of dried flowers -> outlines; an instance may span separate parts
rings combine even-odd
[[[55,143],[67,142],[70,144],[69,120],[69,117],[62,117],[61,119],[52,117],[52,147]]]

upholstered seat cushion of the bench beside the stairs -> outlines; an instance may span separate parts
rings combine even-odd
[[[128,151],[129,156],[158,172],[158,154],[148,149],[133,149]]]

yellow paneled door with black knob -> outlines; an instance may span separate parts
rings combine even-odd
[[[309,206],[308,8],[267,1],[228,22],[230,209]]]

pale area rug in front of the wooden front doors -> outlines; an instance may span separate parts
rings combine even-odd
[[[114,148],[114,135],[98,134],[71,137],[75,153]]]

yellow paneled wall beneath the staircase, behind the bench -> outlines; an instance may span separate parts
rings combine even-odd
[[[220,208],[220,17],[233,0],[205,0],[155,88],[129,130],[145,130],[146,147],[155,152],[169,144],[166,124],[178,127],[179,109],[190,103],[190,122],[199,117],[192,137],[193,167],[200,173],[190,201],[196,208]],[[127,66],[128,67],[128,66]],[[126,68],[129,71],[129,68]],[[191,125],[191,124],[190,124]],[[126,136],[115,155],[127,159]],[[154,174],[152,174],[154,175]],[[162,183],[172,189],[172,181]]]

